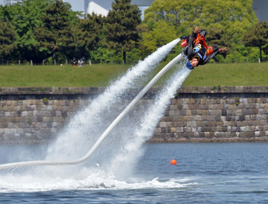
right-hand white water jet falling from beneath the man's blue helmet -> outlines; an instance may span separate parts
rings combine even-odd
[[[182,66],[182,64],[178,65]],[[119,175],[128,176],[135,165],[135,161],[142,154],[142,144],[153,135],[154,128],[159,120],[164,116],[165,110],[170,104],[170,99],[176,95],[176,91],[181,87],[191,70],[183,68],[178,71],[154,99],[154,103],[144,113],[142,123],[134,131],[128,143],[122,147],[121,153],[116,155],[109,170],[117,172]],[[132,161],[131,164],[129,161]]]

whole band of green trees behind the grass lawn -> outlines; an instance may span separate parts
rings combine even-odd
[[[23,0],[0,5],[0,59],[22,62],[63,62],[85,56],[94,63],[133,62],[158,47],[206,29],[208,46],[227,47],[220,62],[268,60],[267,23],[259,23],[252,0],[155,0],[141,12],[131,0],[115,0],[106,17],[72,11],[59,0]],[[182,51],[180,44],[166,58]],[[263,52],[263,54],[262,54]],[[265,55],[266,54],[266,55]]]

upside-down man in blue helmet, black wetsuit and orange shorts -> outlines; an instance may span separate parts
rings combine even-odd
[[[182,47],[185,47],[188,44],[188,47],[183,50],[183,53],[189,60],[189,62],[186,64],[188,69],[193,69],[196,66],[204,65],[220,52],[225,52],[227,50],[226,47],[218,49],[217,45],[208,47],[205,42],[206,34],[206,30],[199,31],[199,28],[196,27],[191,36],[188,35],[180,37],[180,39],[184,39],[184,41],[181,43]]]

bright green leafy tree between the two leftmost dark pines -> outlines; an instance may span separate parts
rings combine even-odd
[[[34,30],[43,25],[41,15],[48,5],[46,0],[25,0],[11,6],[0,7],[2,21],[10,21],[16,31],[17,46],[14,58],[36,62],[46,58],[47,51],[38,46]]]

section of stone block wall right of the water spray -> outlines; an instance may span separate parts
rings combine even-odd
[[[267,141],[268,87],[184,87],[151,142]]]

